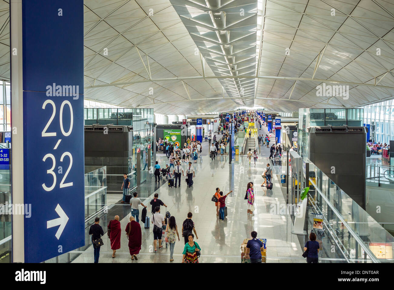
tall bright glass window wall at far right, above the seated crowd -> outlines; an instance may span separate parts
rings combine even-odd
[[[375,142],[388,143],[394,140],[394,100],[361,108],[364,109],[364,124],[375,127]]]

